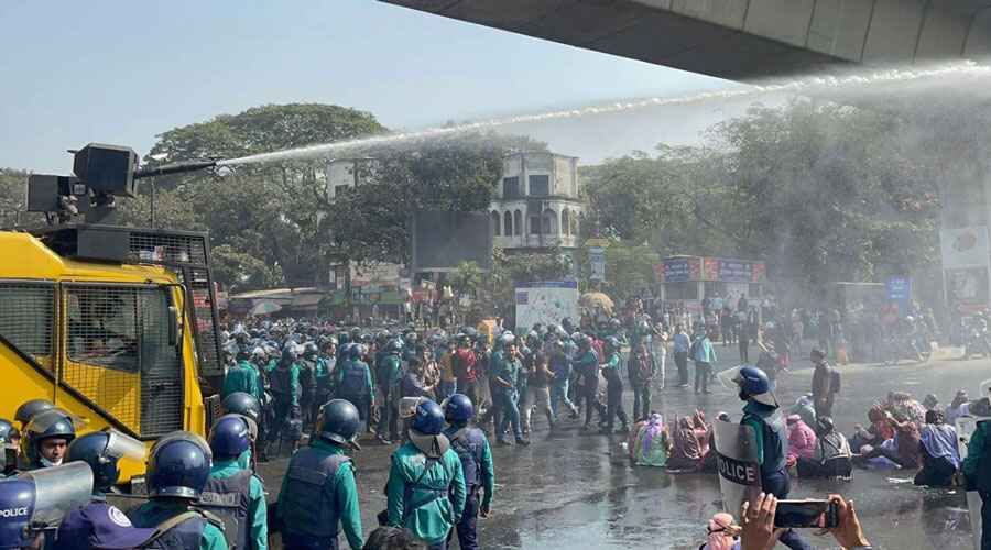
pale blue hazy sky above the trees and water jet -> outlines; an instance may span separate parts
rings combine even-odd
[[[89,142],[144,154],[172,128],[266,103],[398,130],[690,95],[730,82],[373,0],[0,1],[0,166],[67,173]],[[741,105],[510,127],[582,164],[695,143]]]

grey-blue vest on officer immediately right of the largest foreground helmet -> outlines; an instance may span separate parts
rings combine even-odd
[[[243,550],[249,548],[251,518],[250,470],[241,470],[229,477],[210,477],[199,495],[197,508],[206,509],[224,521],[224,536],[227,546]]]

